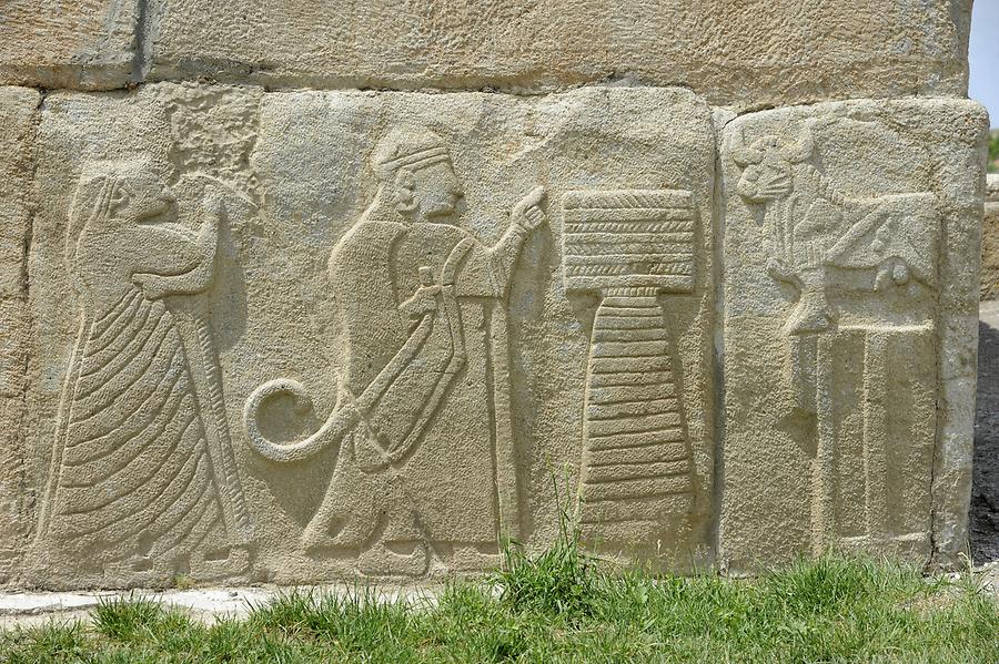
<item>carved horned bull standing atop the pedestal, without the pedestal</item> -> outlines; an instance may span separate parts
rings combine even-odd
[[[810,124],[795,139],[767,134],[748,144],[738,132],[730,151],[744,168],[738,193],[765,208],[767,272],[799,293],[788,334],[835,327],[838,315],[828,289],[841,269],[869,272],[865,287],[872,290],[910,279],[932,285],[938,232],[932,194],[847,195],[809,161]]]

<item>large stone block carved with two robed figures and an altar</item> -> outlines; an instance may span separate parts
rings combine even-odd
[[[475,571],[559,509],[709,559],[690,92],[53,93],[37,153],[19,583]]]

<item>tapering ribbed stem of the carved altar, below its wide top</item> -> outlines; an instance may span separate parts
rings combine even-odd
[[[614,289],[604,298],[588,376],[581,520],[632,523],[640,538],[659,520],[664,499],[693,492],[679,380],[655,289]]]

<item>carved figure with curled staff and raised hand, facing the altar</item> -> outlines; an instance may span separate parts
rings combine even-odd
[[[343,349],[337,406],[309,439],[274,445],[256,423],[261,401],[307,397],[294,381],[272,381],[248,401],[246,426],[258,451],[279,461],[340,447],[306,550],[357,552],[372,574],[421,574],[432,552],[446,566],[496,552],[488,318],[544,219],[544,191],[514,206],[486,246],[456,225],[463,191],[440,136],[392,132],[373,162],[379,191],[329,262]]]

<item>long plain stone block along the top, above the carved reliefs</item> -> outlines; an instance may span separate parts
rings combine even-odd
[[[684,85],[758,108],[963,94],[970,0],[149,0],[151,80],[548,90]]]

